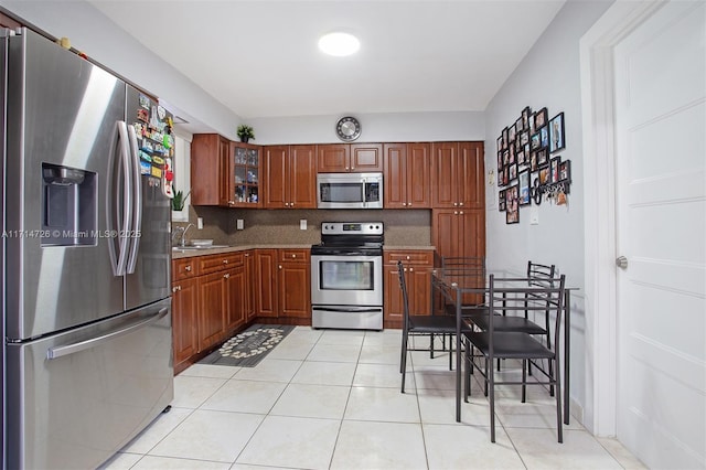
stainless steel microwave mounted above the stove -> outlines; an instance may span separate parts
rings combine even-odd
[[[383,209],[383,173],[319,173],[319,209]]]

